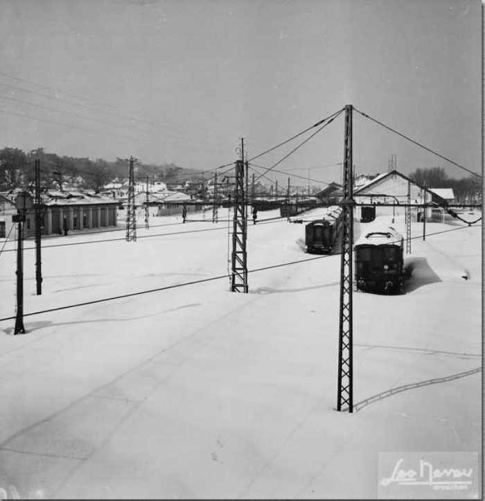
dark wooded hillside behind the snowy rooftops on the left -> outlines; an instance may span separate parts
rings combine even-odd
[[[116,161],[104,159],[91,160],[87,157],[60,157],[48,153],[44,148],[24,152],[19,148],[3,148],[0,150],[0,190],[10,191],[16,188],[28,188],[35,183],[35,160],[40,161],[40,178],[42,188],[62,190],[67,186],[93,189],[99,193],[105,184],[114,179],[125,179],[129,176],[130,162],[116,158]],[[167,184],[178,184],[186,180],[198,182],[202,176],[193,169],[185,169],[175,164],[143,164],[136,162],[135,177],[144,182],[161,181]]]

